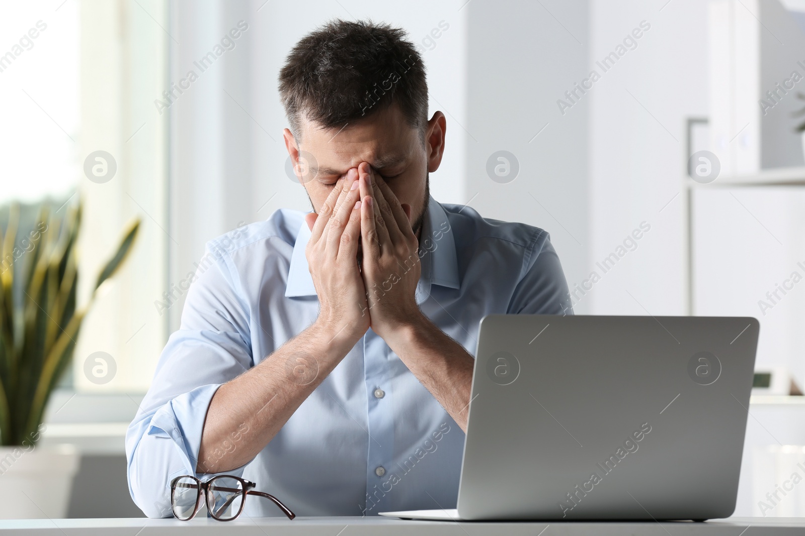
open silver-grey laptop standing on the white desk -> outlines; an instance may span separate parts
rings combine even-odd
[[[489,315],[456,509],[381,515],[728,518],[759,329],[752,317]]]

